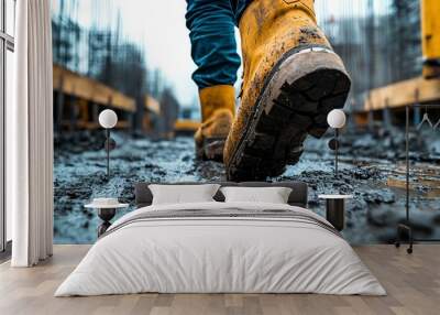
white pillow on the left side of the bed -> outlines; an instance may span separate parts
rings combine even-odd
[[[215,202],[212,198],[220,185],[148,185],[153,194],[153,205]]]

